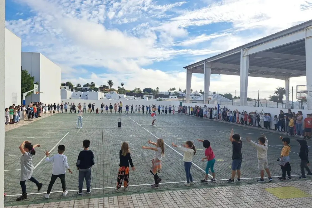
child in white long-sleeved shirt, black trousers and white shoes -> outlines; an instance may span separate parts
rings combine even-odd
[[[51,192],[52,186],[53,186],[56,178],[61,179],[63,196],[66,196],[68,194],[68,191],[66,191],[66,181],[65,181],[66,169],[71,174],[73,174],[73,172],[71,172],[71,169],[69,169],[69,166],[67,163],[67,157],[65,155],[63,155],[64,151],[65,151],[65,146],[62,144],[59,145],[57,148],[58,154],[52,156],[51,158],[49,158],[49,154],[50,154],[49,151],[48,150],[45,151],[46,162],[53,162],[52,176],[51,176],[51,181],[49,183],[48,190],[46,191],[46,196],[45,196],[46,199],[48,199],[50,197],[50,192]]]

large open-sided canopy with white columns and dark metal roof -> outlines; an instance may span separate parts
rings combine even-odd
[[[187,69],[187,102],[193,73],[205,76],[205,103],[211,74],[241,76],[241,105],[246,105],[249,76],[285,80],[288,91],[289,78],[307,76],[307,86],[312,88],[312,20],[201,60],[184,69]],[[286,93],[286,104],[287,99],[289,96]]]

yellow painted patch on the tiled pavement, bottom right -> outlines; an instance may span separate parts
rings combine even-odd
[[[265,190],[280,199],[293,199],[293,198],[302,198],[302,197],[312,196],[306,193],[305,191],[302,191],[294,186],[266,188]]]

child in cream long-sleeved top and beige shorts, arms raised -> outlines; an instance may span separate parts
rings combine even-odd
[[[254,141],[251,141],[249,138],[246,139],[247,142],[250,142],[252,146],[254,146],[257,149],[257,157],[258,157],[258,168],[260,171],[260,179],[257,180],[257,182],[263,183],[264,182],[264,170],[266,170],[266,173],[269,177],[269,182],[272,182],[272,177],[270,170],[268,168],[268,139],[264,134],[261,135],[261,137],[258,138],[258,143],[255,143]]]

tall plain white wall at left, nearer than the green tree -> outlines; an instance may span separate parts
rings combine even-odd
[[[5,106],[21,104],[22,40],[5,28]]]

